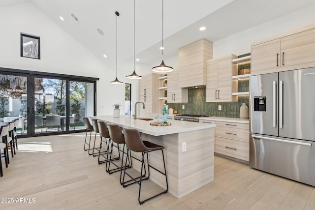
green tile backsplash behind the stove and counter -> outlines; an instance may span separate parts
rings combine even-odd
[[[249,91],[249,80],[238,82],[238,91]],[[239,118],[242,103],[249,106],[249,95],[239,95],[238,102],[206,102],[206,89],[189,89],[188,103],[167,103],[169,108],[178,111],[178,114],[212,115],[216,117]],[[185,109],[182,109],[185,105]],[[222,110],[218,110],[218,106]]]

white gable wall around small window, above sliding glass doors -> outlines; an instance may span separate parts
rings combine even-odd
[[[0,20],[0,67],[100,78],[97,115],[112,115],[115,103],[125,109],[124,85],[109,84],[115,80],[115,69],[109,69],[31,2],[0,7]],[[40,60],[20,57],[21,32],[40,36]],[[134,89],[136,81],[125,76],[118,78]]]

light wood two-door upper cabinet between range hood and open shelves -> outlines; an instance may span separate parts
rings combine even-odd
[[[235,58],[230,55],[207,61],[206,102],[237,101],[237,96],[232,95],[237,91],[237,81],[232,80],[232,75],[237,74],[237,65],[232,62]]]

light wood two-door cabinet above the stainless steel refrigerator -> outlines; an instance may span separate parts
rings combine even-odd
[[[252,44],[251,75],[315,66],[315,25]]]

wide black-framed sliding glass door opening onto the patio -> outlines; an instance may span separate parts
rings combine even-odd
[[[85,130],[83,118],[96,114],[97,78],[66,76],[0,68],[0,121],[19,119],[21,137]]]

